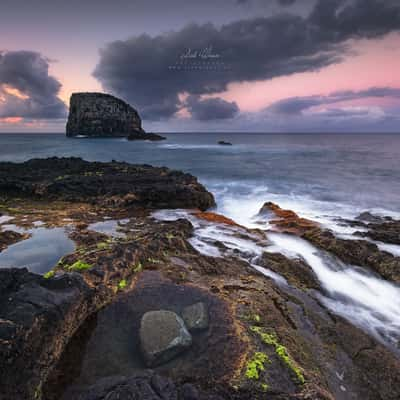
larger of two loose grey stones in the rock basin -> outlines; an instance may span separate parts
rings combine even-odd
[[[192,337],[182,318],[172,311],[149,311],[140,324],[140,344],[149,367],[164,364],[188,349]]]

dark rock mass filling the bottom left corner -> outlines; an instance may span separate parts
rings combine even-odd
[[[88,315],[101,306],[79,275],[46,280],[0,269],[1,399],[34,399],[52,364]]]

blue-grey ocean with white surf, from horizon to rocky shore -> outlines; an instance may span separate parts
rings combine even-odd
[[[189,172],[238,222],[265,201],[329,222],[362,211],[400,215],[400,135],[166,134],[163,142],[0,134],[0,161],[76,156]],[[225,140],[232,146],[221,146]]]

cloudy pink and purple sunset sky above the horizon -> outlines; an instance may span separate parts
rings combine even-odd
[[[105,91],[146,130],[400,132],[399,0],[1,0],[0,132]]]

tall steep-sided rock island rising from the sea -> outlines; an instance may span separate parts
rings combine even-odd
[[[104,93],[71,96],[67,136],[118,137],[144,133],[137,111],[124,101]]]

